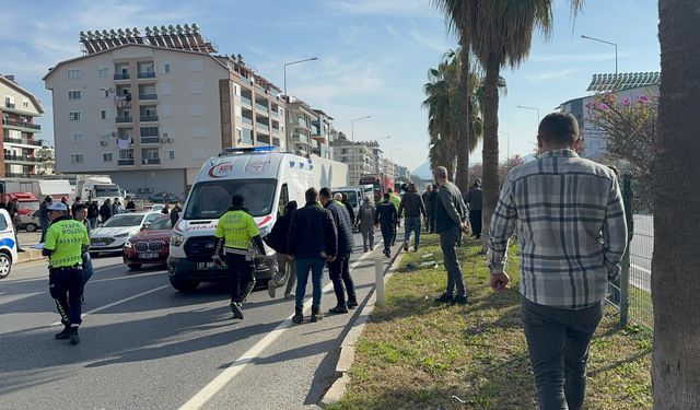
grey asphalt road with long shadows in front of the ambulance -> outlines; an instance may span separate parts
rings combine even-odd
[[[351,258],[361,307],[375,258],[388,262],[380,247]],[[118,257],[94,265],[78,345],[54,339],[61,326],[45,262],[16,266],[0,281],[0,408],[302,408],[334,380],[339,345],[360,312],[292,325],[293,302],[281,289],[275,300],[260,289],[245,319],[234,320],[225,285],[180,293],[163,267],[129,271]],[[326,312],[335,296],[324,277]]]

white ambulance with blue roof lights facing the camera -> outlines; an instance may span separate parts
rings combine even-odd
[[[226,271],[214,266],[212,255],[214,229],[234,195],[243,195],[262,237],[289,201],[304,206],[304,192],[314,186],[312,160],[273,150],[229,149],[201,167],[171,235],[167,269],[173,288],[191,291],[200,282],[228,279]],[[277,269],[275,250],[266,250],[266,257],[255,262],[255,276],[260,280],[272,278]]]

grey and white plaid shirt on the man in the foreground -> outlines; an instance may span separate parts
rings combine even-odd
[[[627,224],[607,166],[552,150],[508,175],[489,230],[489,269],[503,272],[517,227],[520,291],[530,302],[582,308],[603,301],[620,271]]]

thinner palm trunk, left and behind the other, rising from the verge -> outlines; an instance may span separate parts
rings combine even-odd
[[[463,195],[469,189],[469,43],[466,34],[460,38],[459,116],[457,136],[457,171],[455,184]]]

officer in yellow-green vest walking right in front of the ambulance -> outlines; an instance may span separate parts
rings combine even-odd
[[[265,255],[265,245],[260,232],[244,208],[242,195],[231,198],[231,208],[217,224],[214,236],[217,247],[214,262],[221,265],[222,257],[230,274],[231,311],[235,319],[243,319],[243,301],[255,286],[253,261],[256,257],[252,242],[260,255]]]

